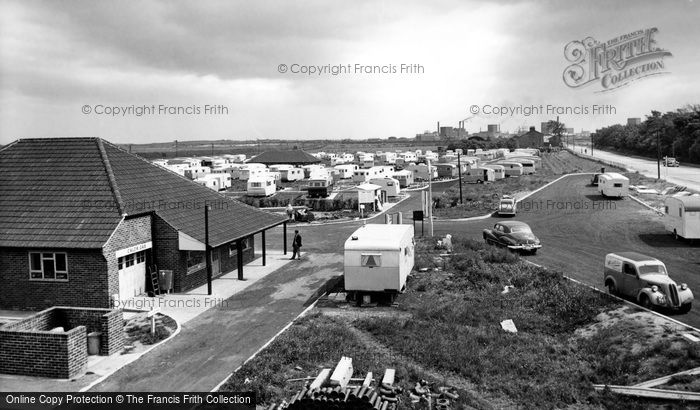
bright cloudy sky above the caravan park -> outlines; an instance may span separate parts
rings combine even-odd
[[[0,0],[0,144],[412,138],[557,113],[595,131],[700,103],[698,17],[694,1]],[[565,84],[570,42],[650,28],[659,75]]]

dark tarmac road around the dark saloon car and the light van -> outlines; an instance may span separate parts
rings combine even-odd
[[[607,253],[636,251],[652,256],[666,264],[671,278],[687,283],[696,295],[693,309],[674,318],[700,327],[700,243],[675,241],[665,232],[661,216],[629,198],[606,200],[588,186],[589,180],[590,176],[574,175],[550,185],[519,203],[515,218],[438,220],[435,235],[460,233],[483,240],[482,230],[499,220],[523,221],[543,243],[536,256],[525,256],[527,260],[600,289]]]

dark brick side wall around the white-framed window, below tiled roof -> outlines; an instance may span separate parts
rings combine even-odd
[[[66,252],[68,281],[29,279],[29,252]],[[109,307],[107,261],[101,249],[0,249],[0,308],[40,310],[68,305]]]

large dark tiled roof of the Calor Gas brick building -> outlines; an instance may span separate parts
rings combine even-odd
[[[286,219],[99,138],[23,139],[0,151],[0,246],[101,247],[122,213],[148,211],[204,242],[205,203],[213,246]]]

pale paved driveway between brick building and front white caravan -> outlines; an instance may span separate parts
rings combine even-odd
[[[342,274],[339,254],[306,254],[189,320],[173,340],[93,391],[210,391]]]

